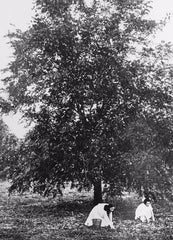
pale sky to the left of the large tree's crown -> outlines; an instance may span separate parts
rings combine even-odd
[[[4,36],[16,28],[21,30],[28,28],[33,15],[32,3],[32,0],[0,0],[0,70],[7,67],[12,56],[12,49]],[[18,138],[22,138],[28,131],[26,124],[21,122],[20,118],[20,114],[3,117],[10,132]]]

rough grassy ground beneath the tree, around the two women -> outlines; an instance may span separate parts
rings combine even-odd
[[[0,182],[0,239],[3,240],[173,240],[173,208],[153,205],[156,222],[134,221],[138,199],[116,200],[115,230],[83,225],[92,208],[90,195],[65,192],[63,199],[25,194],[8,197]],[[137,203],[138,202],[138,203]]]

